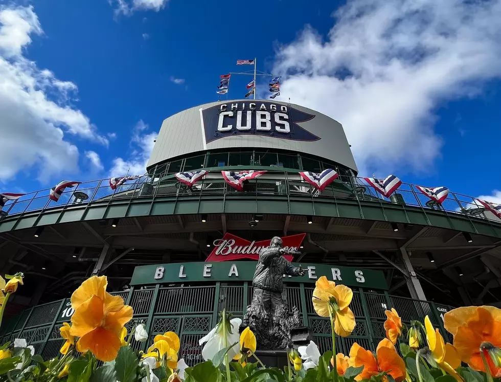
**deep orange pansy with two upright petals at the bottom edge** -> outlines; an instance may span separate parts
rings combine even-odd
[[[396,382],[405,379],[405,363],[390,340],[383,339],[379,342],[376,357],[371,351],[362,348],[356,342],[353,344],[348,364],[351,367],[363,366],[362,372],[355,377],[355,380],[370,379],[382,371],[391,375]],[[387,380],[387,378],[384,379]]]

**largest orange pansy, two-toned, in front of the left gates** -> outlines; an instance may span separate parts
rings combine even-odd
[[[70,334],[80,337],[79,351],[90,350],[100,361],[112,361],[121,347],[120,334],[132,319],[132,307],[106,291],[106,276],[93,276],[73,292]]]

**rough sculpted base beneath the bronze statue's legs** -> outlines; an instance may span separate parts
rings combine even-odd
[[[261,305],[251,304],[243,318],[243,327],[248,326],[254,332],[260,350],[286,350],[292,344],[291,330],[302,325],[298,308],[292,307],[292,314],[289,314],[287,304],[279,306],[273,313]]]

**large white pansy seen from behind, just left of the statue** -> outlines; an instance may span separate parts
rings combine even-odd
[[[219,324],[216,325],[214,329],[212,329],[209,334],[204,336],[199,344],[205,344],[202,349],[202,357],[205,361],[212,361],[212,358],[216,355],[216,353],[224,349],[226,346],[230,346],[235,344],[228,352],[228,359],[233,359],[235,355],[240,350],[240,334],[238,333],[238,328],[242,324],[242,320],[239,318],[235,318],[230,320],[230,324],[232,327],[232,332],[227,332],[226,328],[223,328],[222,320]],[[226,337],[226,341],[224,338]],[[226,344],[226,346],[224,346]]]

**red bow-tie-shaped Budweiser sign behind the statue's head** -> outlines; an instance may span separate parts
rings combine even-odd
[[[287,251],[298,251],[306,234],[282,237],[283,248]],[[271,239],[263,241],[247,241],[241,237],[225,233],[222,239],[214,240],[214,249],[206,261],[232,261],[238,259],[259,260],[259,252],[268,248]],[[284,255],[292,261],[292,255]]]

